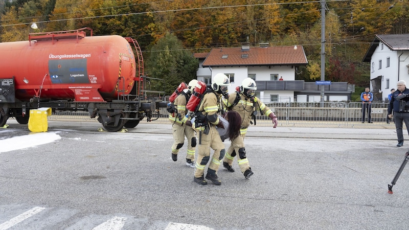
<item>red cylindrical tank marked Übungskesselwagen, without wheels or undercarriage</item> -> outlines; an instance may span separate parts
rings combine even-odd
[[[0,54],[0,79],[14,77],[21,101],[110,101],[130,94],[137,72],[131,45],[118,35],[30,34],[0,43]]]

